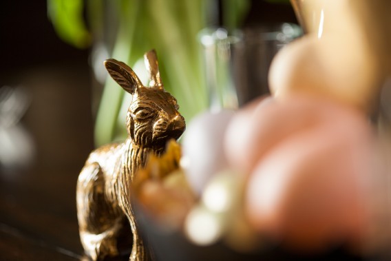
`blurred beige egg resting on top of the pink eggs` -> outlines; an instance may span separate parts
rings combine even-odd
[[[315,94],[370,111],[379,92],[379,68],[361,45],[337,34],[321,39],[310,34],[290,43],[271,64],[271,92],[277,98]]]

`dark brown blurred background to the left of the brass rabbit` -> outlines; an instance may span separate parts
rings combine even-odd
[[[23,86],[32,163],[0,166],[0,260],[78,260],[78,172],[93,149],[89,50],[63,43],[46,1],[0,1],[0,87]],[[2,149],[0,147],[0,149]]]

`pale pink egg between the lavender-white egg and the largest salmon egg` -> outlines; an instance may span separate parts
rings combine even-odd
[[[295,95],[284,101],[268,97],[241,109],[232,118],[224,137],[229,164],[249,174],[257,162],[285,138],[329,114],[329,103],[317,96]]]

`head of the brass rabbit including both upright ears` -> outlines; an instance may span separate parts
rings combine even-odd
[[[108,59],[105,67],[112,78],[132,95],[126,122],[134,144],[162,149],[167,140],[182,135],[185,123],[178,112],[176,98],[164,90],[156,52],[151,50],[144,57],[151,79],[149,87],[142,85],[134,71],[123,62]]]

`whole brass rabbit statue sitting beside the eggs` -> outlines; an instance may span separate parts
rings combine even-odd
[[[131,182],[149,154],[160,155],[170,139],[185,129],[176,98],[163,88],[156,52],[145,54],[149,87],[125,63],[108,59],[112,78],[133,97],[127,111],[128,137],[124,143],[105,145],[89,155],[78,177],[76,205],[81,242],[92,260],[118,255],[118,240],[131,228],[129,260],[151,260],[142,242],[131,207]]]

